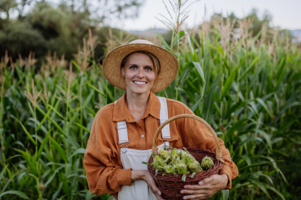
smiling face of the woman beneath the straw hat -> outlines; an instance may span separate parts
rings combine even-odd
[[[136,94],[149,92],[156,78],[152,60],[144,53],[132,53],[121,69],[125,77],[126,91]]]

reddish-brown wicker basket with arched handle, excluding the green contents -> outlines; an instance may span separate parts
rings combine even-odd
[[[188,117],[188,118],[193,118],[201,123],[203,123],[208,130],[211,132],[212,136],[214,137],[214,140],[216,142],[216,152],[210,151],[210,150],[205,150],[205,149],[200,149],[200,148],[191,148],[191,147],[186,147],[186,149],[198,160],[199,162],[202,162],[203,157],[210,156],[213,158],[214,166],[209,168],[208,170],[204,170],[202,172],[197,172],[193,178],[189,177],[189,174],[186,176],[186,180],[182,180],[182,174],[165,174],[164,176],[162,175],[163,172],[159,171],[157,176],[156,176],[156,168],[153,165],[148,165],[147,169],[148,171],[153,175],[155,178],[156,184],[160,191],[162,192],[162,197],[167,200],[175,200],[175,199],[183,199],[184,195],[180,193],[181,189],[184,188],[184,185],[186,184],[198,184],[198,182],[204,178],[207,178],[213,174],[218,174],[219,170],[222,168],[224,164],[224,159],[222,158],[222,151],[221,151],[221,146],[218,141],[218,137],[213,130],[213,128],[201,117],[198,117],[193,114],[179,114],[176,116],[173,116],[166,120],[164,123],[160,125],[158,130],[156,131],[155,137],[154,137],[154,142],[153,142],[153,148],[152,152],[158,154],[158,136],[162,130],[162,128],[170,123],[173,120],[176,120],[178,118],[183,118],[183,117]],[[183,147],[180,147],[178,149],[183,149]],[[148,160],[149,163],[153,162],[153,156],[149,157]],[[208,199],[208,198],[206,198]]]

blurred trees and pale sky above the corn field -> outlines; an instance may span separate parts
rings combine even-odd
[[[288,30],[289,35],[301,40],[299,7],[298,0],[201,0],[188,8],[189,17],[182,29],[193,31],[203,21],[228,15],[231,21],[252,18],[249,30],[253,35],[266,24],[268,28]],[[101,60],[105,42],[120,33],[126,41],[149,38],[154,34],[151,29],[156,28],[170,42],[171,30],[157,19],[163,18],[160,14],[169,16],[162,0],[2,0],[0,53],[4,55],[8,50],[15,60],[19,53],[25,57],[32,50],[36,58],[43,60],[48,51],[56,51],[58,56],[64,54],[71,59],[91,28],[100,42],[95,57]]]

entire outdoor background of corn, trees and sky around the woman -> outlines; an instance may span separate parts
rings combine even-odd
[[[147,39],[178,58],[157,95],[225,141],[239,176],[210,199],[299,199],[300,0],[0,0],[0,199],[108,199],[83,153],[97,111],[123,93],[105,55]]]

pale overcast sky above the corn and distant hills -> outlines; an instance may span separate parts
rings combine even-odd
[[[165,0],[168,2],[168,0]],[[191,0],[192,1],[192,0]],[[301,29],[301,0],[201,0],[192,4],[185,26],[193,27],[204,19],[209,19],[214,12],[224,16],[233,12],[237,17],[244,17],[252,8],[258,10],[261,17],[266,11],[272,16],[271,25],[287,29]],[[162,0],[145,0],[134,19],[117,19],[110,21],[112,27],[124,30],[146,30],[148,28],[167,28],[155,16],[159,13],[169,16]],[[170,17],[169,17],[170,18]]]

